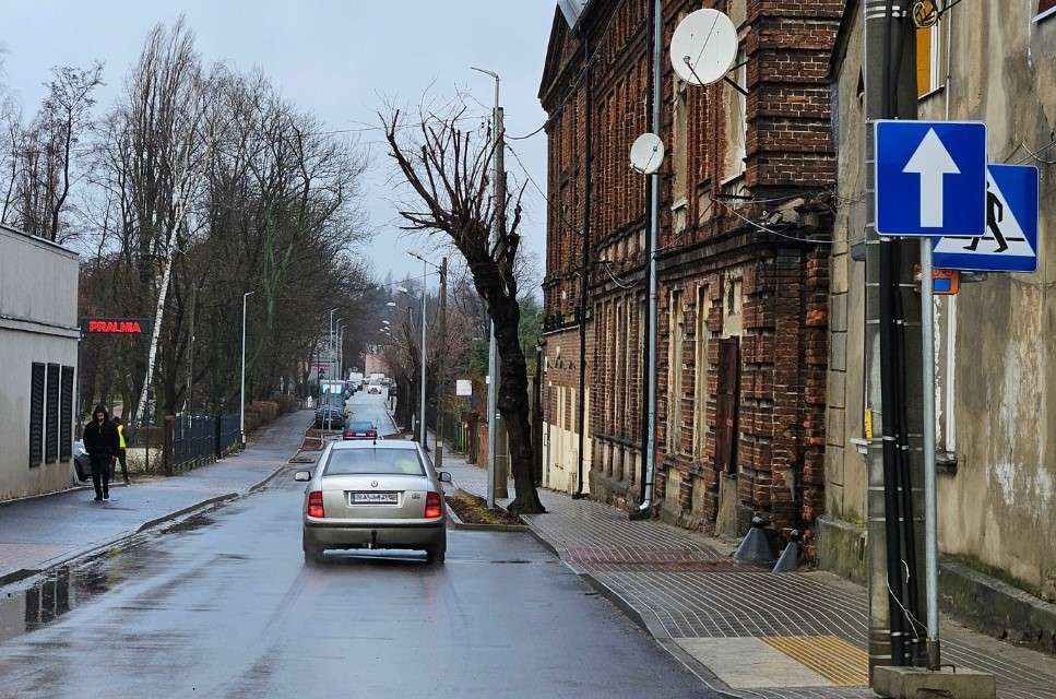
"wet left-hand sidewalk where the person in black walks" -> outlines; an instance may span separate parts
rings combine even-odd
[[[112,487],[109,502],[93,501],[90,488],[0,505],[0,584],[253,489],[296,453],[310,420],[307,411],[284,415],[245,451],[183,475]]]

